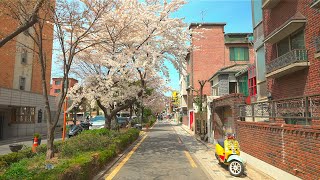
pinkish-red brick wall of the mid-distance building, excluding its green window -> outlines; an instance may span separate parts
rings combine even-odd
[[[190,77],[190,85],[193,85],[194,89],[200,89],[198,80],[208,80],[223,67],[239,63],[249,63],[248,61],[233,62],[229,60],[229,47],[248,45],[225,45],[224,26],[201,26],[192,30],[198,34],[193,34],[192,36],[192,45],[195,50],[190,54],[192,62],[187,65],[187,72],[192,74],[191,66],[193,66],[193,77]],[[253,63],[255,58],[254,49],[250,46],[249,51],[250,63]],[[203,93],[211,95],[209,82],[204,86]]]

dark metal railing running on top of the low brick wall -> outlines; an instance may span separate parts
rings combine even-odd
[[[239,105],[241,118],[284,119],[287,124],[310,124],[320,120],[320,94]]]

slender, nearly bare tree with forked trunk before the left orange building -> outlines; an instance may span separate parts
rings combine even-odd
[[[9,1],[8,4],[10,4]],[[86,48],[99,43],[87,37],[97,31],[95,25],[98,19],[101,18],[103,12],[114,8],[114,2],[113,0],[19,0],[10,5],[12,6],[7,7],[9,8],[8,15],[21,24],[17,32],[29,27],[29,31],[25,31],[25,33],[33,40],[34,46],[30,47],[30,45],[24,44],[24,42],[17,43],[33,51],[37,57],[37,62],[35,63],[40,64],[41,84],[47,117],[46,157],[50,159],[54,156],[54,131],[68,92],[68,88],[66,87],[69,86],[69,71],[74,62],[74,57]],[[27,26],[24,25],[26,23]],[[60,55],[56,63],[61,65],[62,70],[62,90],[57,100],[57,112],[55,114],[51,112],[52,106],[55,104],[49,104],[48,94],[50,84],[48,66],[51,64],[51,57],[48,56],[51,53],[48,53],[48,49],[44,46],[46,43],[52,43],[52,39],[50,39],[52,35],[48,35],[48,32],[52,31],[54,31],[54,38],[58,44],[57,52]],[[13,36],[15,36],[15,34],[12,34],[12,37]],[[51,49],[49,51],[51,51]]]

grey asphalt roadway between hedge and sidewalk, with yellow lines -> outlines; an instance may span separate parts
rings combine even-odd
[[[146,135],[106,179],[209,179],[169,123],[157,123]]]

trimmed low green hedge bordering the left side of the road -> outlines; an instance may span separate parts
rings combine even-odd
[[[33,157],[28,157],[27,153],[21,153],[24,155],[14,159],[14,163],[9,163],[11,166],[5,169],[2,176],[0,174],[0,179],[90,179],[117,153],[123,151],[139,137],[137,129],[129,129],[124,133],[106,130],[90,131],[75,136],[63,144],[58,143],[58,156],[47,162],[54,166],[53,169],[45,169],[45,153],[39,153],[37,156],[33,154]],[[79,144],[81,138],[86,140]],[[89,138],[93,138],[91,142]],[[94,143],[97,145],[95,146]],[[91,147],[84,145],[91,145]],[[77,148],[77,150],[70,153],[72,149],[68,148]],[[6,160],[9,162],[9,159]]]

